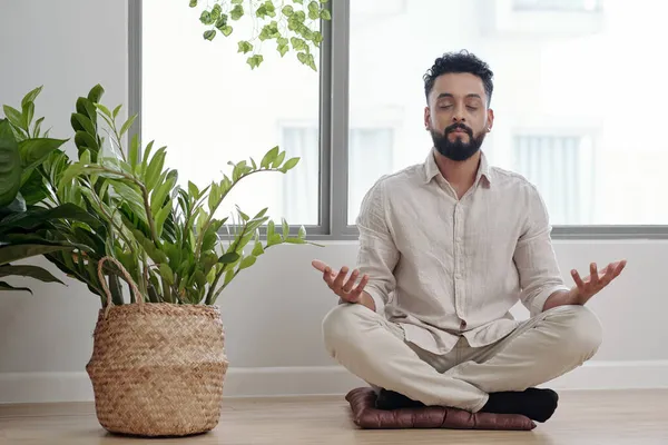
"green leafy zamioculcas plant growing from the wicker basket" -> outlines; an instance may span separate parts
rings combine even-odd
[[[120,106],[108,109],[99,102],[101,93],[97,86],[89,95],[96,101],[79,99],[82,107],[72,117],[79,159],[53,175],[61,202],[86,207],[104,221],[102,234],[86,234],[104,244],[87,244],[94,248],[82,259],[85,269],[88,261],[109,255],[122,264],[150,301],[213,305],[234,277],[253,266],[267,248],[307,243],[303,227],[291,236],[287,221],[277,226],[266,216],[267,208],[250,217],[237,206],[235,216],[216,217],[242,180],[258,172],[286,174],[298,158],[286,159],[285,151],[274,147],[259,161],[229,162],[230,174],[202,190],[190,181],[181,188],[177,170],[165,167],[166,147],[156,149],[153,141],[141,147],[135,137],[129,149],[125,148],[124,136],[134,118],[118,122]],[[114,149],[108,152],[101,150],[101,130],[110,136]],[[49,167],[47,170],[52,172]],[[259,229],[265,225],[263,239]],[[87,279],[92,278],[92,266],[90,269]],[[96,294],[104,300],[104,293]]]

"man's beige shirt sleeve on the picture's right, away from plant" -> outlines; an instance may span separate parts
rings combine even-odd
[[[550,295],[570,289],[563,283],[552,247],[548,210],[533,186],[530,186],[528,204],[513,259],[520,277],[520,299],[533,317],[543,312]]]

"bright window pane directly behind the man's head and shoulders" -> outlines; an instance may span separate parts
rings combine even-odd
[[[668,3],[392,3],[377,14],[382,0],[351,2],[351,196],[424,160],[432,141],[422,76],[441,53],[468,49],[494,71],[495,121],[483,150],[539,187],[553,225],[668,224]],[[392,140],[358,147],[360,128],[391,129]],[[351,199],[348,221],[357,212]]]

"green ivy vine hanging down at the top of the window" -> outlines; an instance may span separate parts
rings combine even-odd
[[[188,0],[190,8],[197,8],[198,0]],[[239,40],[237,52],[248,55],[246,63],[255,69],[264,61],[262,46],[273,40],[276,50],[284,57],[291,50],[296,58],[317,71],[313,52],[323,42],[318,30],[320,20],[332,20],[326,9],[328,0],[214,0],[207,1],[199,21],[207,27],[203,37],[212,41],[218,34],[229,37],[234,22],[242,18],[254,20],[253,36]]]

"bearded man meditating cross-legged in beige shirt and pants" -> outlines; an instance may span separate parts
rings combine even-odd
[[[330,354],[379,389],[377,406],[440,405],[522,414],[557,408],[549,382],[601,343],[584,304],[626,261],[564,286],[544,204],[521,176],[490,167],[492,71],[465,51],[424,76],[424,164],[381,178],[365,196],[358,268],[313,266],[342,303],[323,322]],[[361,277],[361,278],[360,278]],[[519,300],[531,318],[514,320]]]

